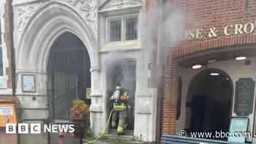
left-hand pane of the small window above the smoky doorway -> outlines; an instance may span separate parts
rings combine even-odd
[[[121,41],[121,20],[110,21],[110,42]]]

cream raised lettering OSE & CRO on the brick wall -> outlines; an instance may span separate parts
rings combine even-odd
[[[206,31],[206,33],[204,33]],[[256,33],[256,22],[252,23],[236,23],[226,25],[223,29],[224,36],[240,35],[240,34],[252,34]],[[206,34],[206,35],[203,35]],[[208,35],[207,35],[208,34]],[[183,40],[194,40],[194,39],[204,39],[204,38],[214,38],[219,37],[216,27],[211,27],[208,29],[193,29],[185,31],[181,39]]]

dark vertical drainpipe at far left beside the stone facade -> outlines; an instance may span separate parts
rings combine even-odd
[[[13,45],[13,7],[12,0],[8,1],[8,21],[9,21],[9,34],[10,34],[10,50],[11,50],[11,67],[12,67],[12,95],[15,95],[16,81],[15,81],[15,49]]]

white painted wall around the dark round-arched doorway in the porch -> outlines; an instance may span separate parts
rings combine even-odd
[[[256,57],[249,57],[246,60],[252,61],[252,64],[246,66],[244,64],[245,61],[235,61],[235,60],[228,60],[228,61],[217,61],[213,64],[208,64],[208,68],[216,68],[221,69],[222,71],[226,72],[227,75],[230,76],[231,80],[233,81],[233,94],[235,94],[236,88],[236,81],[242,77],[252,77],[253,80],[256,80]],[[192,68],[185,68],[185,67],[178,67],[178,75],[182,77],[182,97],[181,97],[181,117],[177,121],[177,131],[184,129],[185,120],[186,120],[186,101],[187,101],[187,93],[189,84],[192,81],[192,78],[195,77],[201,70],[203,69],[192,69]],[[256,93],[255,93],[256,94]],[[235,96],[233,95],[233,103],[234,103]],[[255,105],[255,100],[254,100]],[[253,112],[249,115],[249,132],[252,132],[253,129],[253,121],[254,121],[254,113],[255,107],[253,107]],[[236,116],[236,113],[233,113],[233,116]],[[251,140],[251,139],[248,139]]]

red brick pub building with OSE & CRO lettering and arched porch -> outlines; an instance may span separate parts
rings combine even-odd
[[[232,117],[244,117],[255,135],[256,1],[169,2],[186,30],[165,61],[159,132],[227,132]]]

